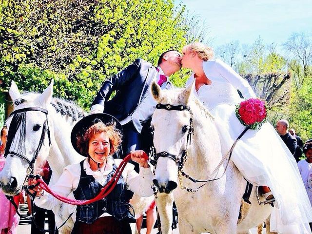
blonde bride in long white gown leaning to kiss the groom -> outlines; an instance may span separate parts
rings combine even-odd
[[[235,105],[243,100],[237,90],[246,99],[256,96],[245,79],[213,57],[212,48],[195,42],[183,48],[182,67],[193,70],[187,85],[195,79],[194,94],[214,115],[222,153],[226,154],[246,128],[235,115]],[[311,234],[312,208],[296,161],[269,122],[241,137],[232,160],[251,183],[270,187],[276,201],[271,232]]]

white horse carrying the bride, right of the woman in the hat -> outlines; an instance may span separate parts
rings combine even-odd
[[[182,91],[162,91],[154,82],[151,90],[158,102],[152,119],[157,153],[153,182],[158,189],[156,204],[162,233],[172,233],[173,199],[178,210],[180,234],[245,234],[263,223],[272,207],[260,206],[254,190],[250,198],[252,205],[243,202],[241,218],[238,219],[246,180],[231,160],[223,177],[205,184],[180,175],[184,150],[187,161],[184,161],[182,171],[200,180],[206,180],[223,157],[214,118],[192,97],[192,86]],[[222,175],[227,162],[221,163],[214,177]],[[183,189],[196,189],[203,184],[195,193]]]

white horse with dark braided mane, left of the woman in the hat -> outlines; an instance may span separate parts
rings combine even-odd
[[[42,108],[43,110],[42,112],[40,109],[24,109],[25,122],[21,122],[20,126],[16,126],[17,123],[12,122],[13,117],[9,117],[7,120],[8,137],[14,135],[14,138],[13,142],[8,141],[10,152],[0,173],[0,186],[6,195],[16,195],[22,190],[29,171],[29,164],[35,157],[40,138],[42,138],[43,128],[48,128],[50,131],[51,146],[48,132],[45,131],[41,149],[39,149],[37,160],[33,166],[38,168],[44,161],[49,162],[53,172],[50,185],[59,179],[65,166],[78,163],[83,159],[72,147],[70,133],[75,122],[83,117],[84,113],[72,103],[57,98],[52,99],[53,81],[42,94],[26,93],[23,95],[20,95],[17,85],[12,81],[9,93],[15,102],[14,111],[23,111],[24,108]],[[44,113],[44,110],[47,110],[47,114]],[[47,124],[45,124],[46,120]],[[11,130],[11,126],[12,129],[15,127],[15,132]],[[22,135],[24,136],[21,137]],[[23,139],[20,140],[21,138]],[[21,157],[17,156],[19,154],[17,151],[22,152]],[[70,197],[73,198],[73,195],[71,194]],[[53,212],[57,227],[74,211],[76,211],[75,206],[65,203],[55,207]],[[74,214],[59,230],[59,233],[71,233],[75,219],[76,215]]]

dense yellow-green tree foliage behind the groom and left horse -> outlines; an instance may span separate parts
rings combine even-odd
[[[137,58],[185,44],[172,0],[0,0],[0,79],[88,108],[101,83]],[[179,75],[174,83],[181,85]]]

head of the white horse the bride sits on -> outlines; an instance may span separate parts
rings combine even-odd
[[[154,82],[151,90],[158,102],[151,123],[156,150],[153,182],[160,193],[168,194],[177,187],[178,168],[190,144],[193,124],[188,103],[192,85],[184,90],[162,91]]]

